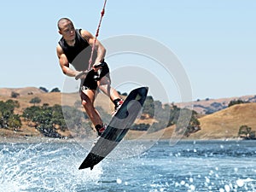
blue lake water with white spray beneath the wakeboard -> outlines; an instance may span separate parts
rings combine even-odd
[[[2,143],[0,191],[256,191],[255,141],[123,145],[90,171],[79,143]]]

